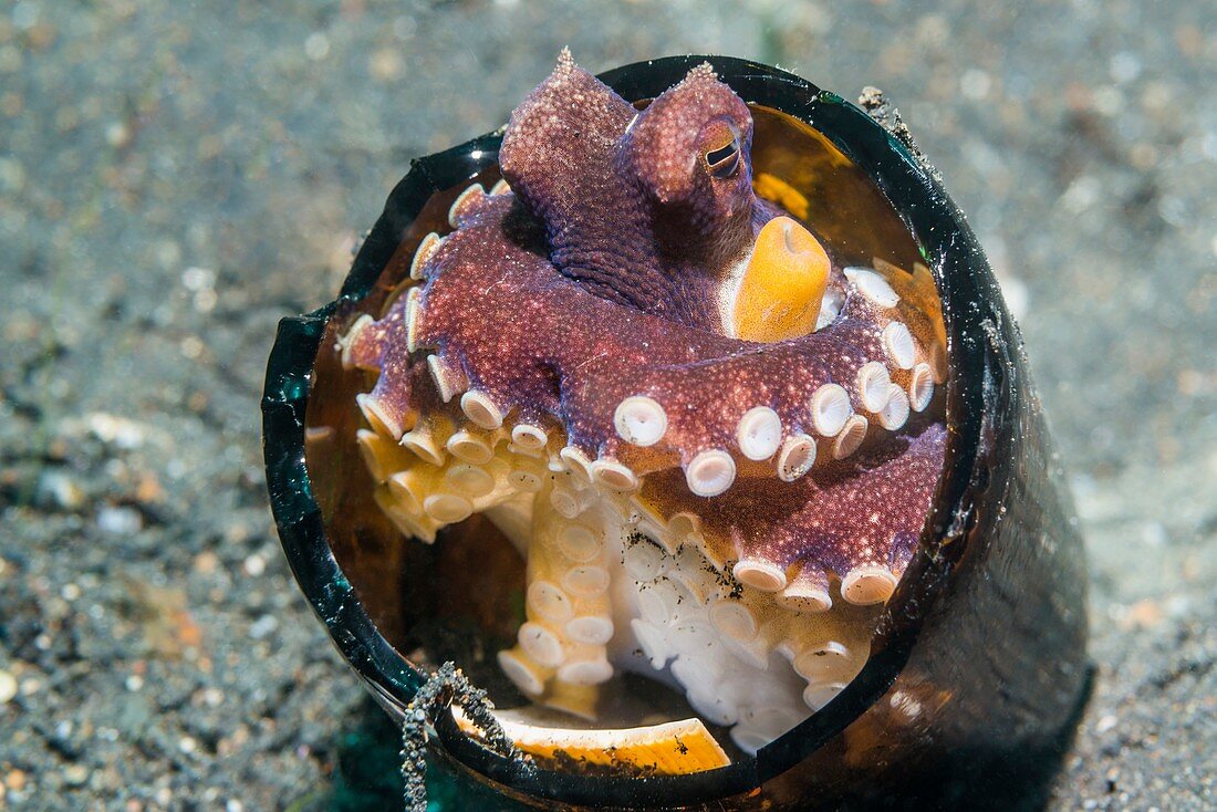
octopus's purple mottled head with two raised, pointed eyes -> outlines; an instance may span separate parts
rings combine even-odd
[[[751,145],[747,105],[710,66],[639,112],[563,54],[511,114],[499,159],[563,275],[718,330],[718,284],[778,213],[752,192]]]

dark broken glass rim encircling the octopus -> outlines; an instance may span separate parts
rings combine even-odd
[[[952,427],[946,466],[921,543],[880,623],[877,653],[836,699],[762,747],[755,758],[702,773],[647,778],[546,771],[486,750],[441,715],[437,733],[455,758],[525,796],[590,806],[662,805],[677,799],[694,803],[747,793],[790,769],[841,733],[892,685],[908,661],[922,618],[942,594],[965,547],[970,482],[983,420],[983,376],[978,373],[991,363],[983,331],[987,308],[975,304],[1000,301],[994,298],[975,236],[935,173],[904,144],[864,111],[795,74],[733,57],[673,56],[616,68],[600,79],[627,100],[652,99],[701,62],[710,62],[748,103],[783,112],[826,136],[871,178],[909,228],[943,301]],[[490,133],[413,161],[355,257],[340,298],[313,313],[282,319],[267,369],[262,402],[267,483],[287,560],[338,650],[381,704],[398,711],[409,704],[426,674],[413,668],[376,628],[329,547],[304,465],[310,374],[338,304],[368,295],[427,200],[493,167],[500,140],[501,131]],[[985,271],[977,273],[981,268]],[[948,544],[950,541],[960,543]]]

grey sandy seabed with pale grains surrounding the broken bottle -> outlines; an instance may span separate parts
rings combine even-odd
[[[1049,808],[1212,808],[1215,23],[1183,0],[0,7],[0,810],[392,797],[392,730],[277,547],[265,358],[409,158],[498,127],[563,45],[887,91],[1003,279],[1090,554],[1098,682]]]

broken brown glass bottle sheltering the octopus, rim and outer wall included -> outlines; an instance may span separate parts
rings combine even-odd
[[[644,99],[702,58],[602,78]],[[920,545],[862,674],[756,758],[646,782],[537,771],[488,754],[443,717],[434,752],[497,793],[551,808],[1026,797],[1059,758],[1088,668],[1081,543],[1016,327],[963,215],[907,144],[797,77],[708,58],[756,102],[757,170],[807,197],[809,225],[837,261],[880,257],[908,268],[924,258],[935,275],[950,432]],[[497,146],[497,136],[483,136],[420,162],[389,198],[343,298],[286,319],[268,369],[268,482],[285,549],[336,644],[396,715],[422,678],[413,665],[448,656],[510,690],[483,666],[522,616],[522,565],[476,520],[433,547],[398,537],[371,502],[353,442],[353,397],[371,381],[343,371],[333,345],[358,313],[382,312],[414,247],[444,230],[467,179],[494,180]],[[421,192],[431,195],[425,205]]]

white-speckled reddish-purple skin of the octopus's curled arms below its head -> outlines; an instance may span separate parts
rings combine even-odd
[[[857,313],[858,320],[848,318],[856,302],[837,325],[763,351],[616,306],[562,278],[532,251],[501,240],[506,217],[507,201],[488,203],[439,248],[417,342],[459,359],[470,387],[487,392],[521,421],[560,422],[567,442],[590,459],[618,459],[639,476],[669,470],[701,449],[731,447],[740,416],[758,403],[772,405],[784,425],[814,433],[808,392],[828,381],[852,388],[862,364],[881,357],[875,331],[860,321],[864,313]],[[497,269],[495,276],[507,276],[492,286],[489,268]],[[473,302],[476,320],[469,318]],[[581,318],[572,320],[572,313]],[[389,325],[400,318],[391,314]],[[374,336],[366,338],[361,348],[371,349]],[[433,385],[425,366],[400,363],[402,355],[394,359],[399,345],[404,332],[386,330],[386,365],[372,396],[393,404],[389,408],[427,408]],[[656,397],[668,414],[663,439],[649,448],[632,446],[613,431],[613,409],[638,393]],[[403,420],[408,414],[403,411]],[[668,493],[700,514],[720,516],[724,528],[716,534],[738,538],[740,558],[759,554],[786,566],[814,554],[821,566],[845,575],[859,564],[898,559],[894,550],[902,543],[896,539],[920,532],[943,441],[941,427],[913,424],[907,436],[876,443],[856,459],[815,466],[796,482],[779,482],[772,471],[756,477],[753,485],[764,492],[761,499],[748,487],[752,477],[711,500],[694,497],[679,477]],[[905,450],[910,453],[902,454]],[[840,499],[829,497],[834,489]],[[858,499],[880,503],[881,528],[870,521],[873,511],[854,509]],[[769,517],[764,525],[753,525],[758,510]],[[775,528],[780,532],[770,532]]]

